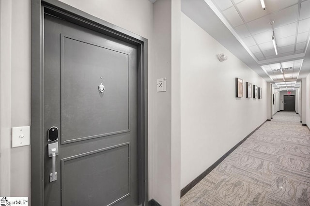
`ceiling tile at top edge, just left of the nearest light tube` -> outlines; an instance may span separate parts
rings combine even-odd
[[[241,15],[246,22],[252,21],[263,15],[268,14],[267,11],[263,11],[261,1],[259,0],[245,0],[237,4]],[[250,8],[250,9],[249,9]]]

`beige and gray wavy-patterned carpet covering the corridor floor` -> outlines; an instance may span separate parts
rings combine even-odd
[[[181,198],[181,206],[310,206],[310,131],[278,112]]]

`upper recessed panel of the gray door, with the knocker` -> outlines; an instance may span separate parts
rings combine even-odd
[[[128,54],[62,36],[61,60],[62,143],[128,132]]]

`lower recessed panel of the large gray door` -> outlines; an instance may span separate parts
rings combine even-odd
[[[62,205],[92,202],[107,206],[127,197],[130,194],[129,148],[129,143],[125,143],[62,159]],[[84,193],[88,195],[81,195]],[[109,196],[102,196],[108,193]]]

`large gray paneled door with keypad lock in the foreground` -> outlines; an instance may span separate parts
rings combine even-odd
[[[43,82],[45,206],[138,205],[137,47],[45,15]]]

